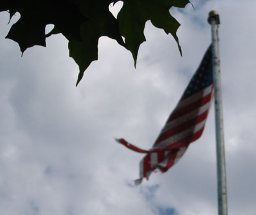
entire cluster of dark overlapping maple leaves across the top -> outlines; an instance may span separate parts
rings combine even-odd
[[[109,4],[118,1],[124,4],[115,19]],[[22,53],[34,45],[45,47],[47,36],[63,34],[69,41],[70,57],[79,66],[78,84],[86,68],[98,59],[101,36],[108,36],[130,50],[136,65],[138,50],[145,41],[143,31],[147,20],[172,34],[181,54],[176,35],[180,24],[170,15],[170,8],[184,8],[188,3],[188,0],[1,0],[0,11],[9,11],[10,19],[20,13],[6,38],[19,43]],[[54,28],[45,35],[47,24],[53,24]]]

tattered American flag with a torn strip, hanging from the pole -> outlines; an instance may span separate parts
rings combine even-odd
[[[140,161],[140,179],[136,184],[140,184],[143,177],[148,179],[156,169],[166,172],[182,157],[189,144],[202,135],[213,94],[210,46],[152,149],[140,149],[123,138],[116,139],[133,151],[147,153]]]

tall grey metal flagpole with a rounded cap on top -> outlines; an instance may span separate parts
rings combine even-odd
[[[216,127],[216,156],[217,156],[217,177],[218,177],[218,214],[227,215],[227,182],[225,166],[225,147],[223,130],[223,112],[220,84],[220,58],[219,58],[219,38],[218,25],[220,18],[216,11],[210,11],[209,24],[212,33],[212,73],[214,80],[215,95],[215,127]]]

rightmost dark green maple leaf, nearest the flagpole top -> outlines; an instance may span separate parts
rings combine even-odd
[[[175,1],[175,5],[185,6],[188,2],[186,0]],[[173,0],[124,1],[117,19],[120,23],[120,32],[125,37],[127,48],[132,52],[135,65],[140,45],[146,40],[143,32],[147,20],[151,20],[154,26],[164,29],[166,34],[172,34],[177,41],[181,54],[179,40],[176,35],[180,24],[170,15],[169,11],[173,3]]]

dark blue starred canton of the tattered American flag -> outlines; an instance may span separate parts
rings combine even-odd
[[[211,46],[205,53],[204,59],[200,63],[198,70],[189,82],[186,91],[183,94],[183,98],[187,98],[198,91],[201,91],[205,87],[212,84],[212,55]]]

